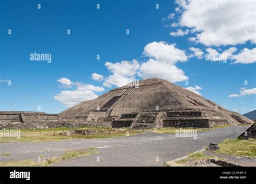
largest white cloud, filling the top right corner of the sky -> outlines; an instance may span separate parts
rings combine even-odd
[[[180,26],[197,33],[196,43],[226,46],[256,43],[255,1],[176,1],[181,12]]]

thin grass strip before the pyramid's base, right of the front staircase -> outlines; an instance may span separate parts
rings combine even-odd
[[[214,129],[220,129],[220,128],[224,128],[226,126],[230,126],[230,125],[218,125],[212,128],[183,128],[182,130],[197,130],[197,131],[209,131],[209,130],[214,130]],[[159,130],[147,130],[147,131],[152,131],[152,132],[156,132],[156,133],[176,133],[176,131],[179,130],[179,128],[174,128],[174,127],[168,127],[168,128],[162,128]]]

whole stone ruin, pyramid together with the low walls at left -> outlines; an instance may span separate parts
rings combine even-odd
[[[115,88],[95,100],[81,102],[59,114],[1,111],[0,129],[112,127],[160,129],[210,128],[223,124],[252,124],[237,112],[206,100],[163,79],[140,80]]]

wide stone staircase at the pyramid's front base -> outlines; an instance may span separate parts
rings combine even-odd
[[[157,116],[158,112],[144,112],[134,120],[130,129],[152,129]]]

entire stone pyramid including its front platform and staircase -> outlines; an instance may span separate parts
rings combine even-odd
[[[253,123],[237,112],[228,111],[189,90],[158,78],[112,89],[95,100],[81,102],[60,112],[58,116],[95,122],[113,121],[113,126],[131,128]],[[206,121],[208,125],[203,125]]]

